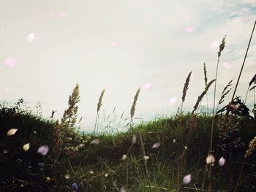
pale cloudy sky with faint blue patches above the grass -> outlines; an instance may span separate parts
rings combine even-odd
[[[214,79],[219,44],[226,35],[217,79],[219,101],[227,82],[237,80],[256,19],[256,0],[0,0],[0,4],[1,103],[22,98],[34,108],[39,102],[43,117],[56,110],[55,118],[61,118],[78,83],[78,119],[83,117],[84,131],[94,129],[103,89],[100,122],[109,114],[108,120],[117,116],[118,122],[122,112],[129,118],[138,88],[135,118],[148,121],[173,114],[181,106],[190,71],[184,110],[191,111],[205,86],[203,63],[208,80]],[[255,73],[256,35],[238,96],[244,98]],[[214,86],[208,91],[209,107],[213,93]],[[249,93],[248,106],[252,101]]]

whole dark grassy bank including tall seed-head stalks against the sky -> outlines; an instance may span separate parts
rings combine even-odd
[[[219,47],[217,72],[224,47],[225,38]],[[246,54],[248,49],[249,45]],[[244,62],[241,72],[243,66]],[[69,107],[61,123],[53,120],[53,114],[50,119],[42,118],[38,107],[36,112],[23,110],[23,99],[14,106],[1,104],[1,191],[255,191],[256,104],[252,117],[245,103],[239,97],[234,98],[237,82],[233,99],[215,112],[217,72],[216,78],[207,83],[204,66],[206,88],[192,112],[182,111],[190,72],[184,84],[181,109],[176,114],[134,125],[139,88],[130,122],[123,122],[126,131],[111,129],[116,107],[112,112],[114,120],[103,131],[97,130],[103,90],[97,104],[94,133],[80,132],[75,127],[80,98],[78,84],[69,96]],[[213,112],[208,112],[207,104],[207,112],[197,114],[214,81]],[[230,92],[227,90],[230,83],[222,91],[219,104]],[[249,88],[254,87],[248,90],[255,91],[255,83],[253,77]],[[104,118],[103,124],[109,118],[110,115]],[[10,134],[10,129],[17,131]],[[24,145],[29,147],[24,150]],[[48,153],[39,153],[38,149],[45,145]],[[210,163],[206,161],[208,155],[212,155]],[[220,164],[219,159],[225,162]]]

